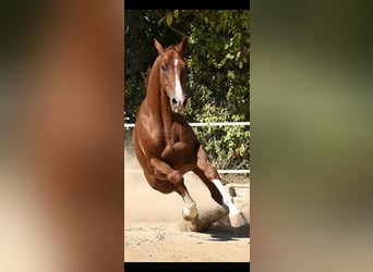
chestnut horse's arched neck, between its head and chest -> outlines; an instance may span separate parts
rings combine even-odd
[[[159,66],[160,58],[157,58],[149,74],[146,100],[152,119],[154,119],[155,122],[163,124],[165,133],[168,135],[171,133],[172,111],[168,96],[166,95],[166,91],[161,89]]]

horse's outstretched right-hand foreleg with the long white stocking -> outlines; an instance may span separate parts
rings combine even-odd
[[[194,170],[194,173],[206,184],[214,200],[228,210],[232,226],[239,227],[246,224],[242,212],[234,206],[233,198],[224,187],[216,168],[209,163],[207,153],[202,145],[197,152],[197,168]]]

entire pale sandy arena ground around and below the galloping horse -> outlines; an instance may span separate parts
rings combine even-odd
[[[124,158],[124,262],[250,261],[249,225],[232,228],[226,212],[194,174],[184,177],[201,220],[209,223],[203,232],[191,231],[190,223],[183,221],[179,195],[151,188],[136,172],[136,161]],[[233,199],[250,222],[250,197]]]

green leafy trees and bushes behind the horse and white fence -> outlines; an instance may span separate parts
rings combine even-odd
[[[124,104],[130,122],[145,97],[142,73],[156,58],[154,38],[168,46],[182,36],[189,38],[186,120],[250,120],[249,10],[125,10],[124,32]],[[248,168],[248,127],[196,132],[218,168]]]

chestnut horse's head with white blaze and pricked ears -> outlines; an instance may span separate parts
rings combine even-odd
[[[185,106],[185,77],[186,62],[183,54],[188,40],[183,38],[180,44],[164,48],[157,39],[154,39],[155,48],[160,57],[160,86],[169,98],[171,110],[176,113],[182,112]]]

